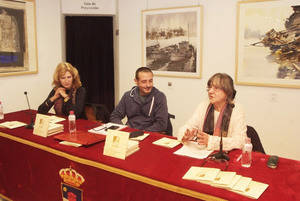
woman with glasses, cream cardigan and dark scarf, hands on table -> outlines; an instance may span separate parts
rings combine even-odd
[[[225,73],[213,75],[207,82],[208,100],[199,104],[193,116],[179,129],[183,143],[198,143],[207,150],[218,150],[220,136],[223,149],[241,149],[246,138],[244,111],[234,103],[236,91],[232,78]]]

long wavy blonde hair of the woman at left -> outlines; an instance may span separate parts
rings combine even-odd
[[[66,74],[66,72],[70,72],[73,77],[72,88],[78,89],[82,86],[77,69],[73,67],[70,63],[61,62],[57,65],[53,75],[52,85],[54,86],[54,88],[61,87],[59,78]]]

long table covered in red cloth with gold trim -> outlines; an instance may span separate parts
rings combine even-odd
[[[30,112],[5,114],[4,121],[30,122]],[[64,124],[67,131],[67,121]],[[78,119],[77,130],[87,131],[99,123]],[[182,179],[191,166],[204,160],[175,155],[182,145],[169,149],[152,144],[165,137],[151,133],[140,150],[125,160],[104,156],[104,142],[88,147],[61,145],[53,136],[43,138],[32,129],[0,128],[0,196],[14,201],[63,200],[64,184],[59,171],[72,168],[82,175],[81,200],[85,201],[193,201],[253,200],[222,188]],[[227,170],[269,184],[259,200],[300,200],[300,162],[279,158],[276,169],[266,166],[268,155],[253,153],[250,168],[236,159],[241,150],[229,153]],[[207,161],[206,167],[224,169],[225,163]]]

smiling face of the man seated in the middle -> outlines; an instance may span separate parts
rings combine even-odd
[[[140,95],[148,95],[153,88],[153,74],[151,72],[139,72],[138,79],[134,79],[136,85],[139,87]]]

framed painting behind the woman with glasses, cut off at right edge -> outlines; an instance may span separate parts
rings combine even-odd
[[[236,84],[300,88],[300,4],[237,4]]]

